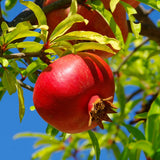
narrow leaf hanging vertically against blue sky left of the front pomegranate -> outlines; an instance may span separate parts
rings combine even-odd
[[[20,119],[20,122],[22,122],[22,119],[25,113],[23,89],[18,82],[16,83],[16,87],[17,87],[18,100],[19,100],[19,119]]]

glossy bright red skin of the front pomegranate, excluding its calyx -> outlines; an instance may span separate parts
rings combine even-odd
[[[38,77],[33,101],[39,115],[58,130],[79,133],[88,126],[89,101],[114,96],[114,79],[107,63],[91,53],[69,54],[50,64]]]

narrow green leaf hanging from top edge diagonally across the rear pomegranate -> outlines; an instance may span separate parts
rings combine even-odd
[[[122,48],[124,48],[122,32],[119,26],[116,24],[112,13],[104,8],[104,5],[100,0],[94,0],[92,2],[89,1],[89,4],[104,18],[107,24],[111,27],[116,39],[118,39],[121,42],[121,46]]]

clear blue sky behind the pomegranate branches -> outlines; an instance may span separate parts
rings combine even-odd
[[[4,6],[4,0],[2,1],[2,7]],[[15,9],[16,8],[16,9]],[[8,13],[9,20],[12,20],[24,7],[17,5]],[[151,14],[154,20],[157,20],[156,11]],[[134,88],[128,88],[131,92]],[[19,121],[19,108],[18,108],[18,96],[17,93],[9,96],[8,93],[4,95],[2,101],[0,101],[0,159],[2,160],[29,160],[32,153],[35,151],[33,144],[36,139],[24,138],[13,140],[13,136],[19,132],[41,132],[45,133],[46,122],[44,122],[36,111],[30,111],[30,106],[33,106],[32,92],[24,89],[24,99],[26,112],[22,120]],[[58,155],[60,156],[60,155]],[[55,157],[56,160],[59,157]],[[113,160],[113,159],[112,159]]]

